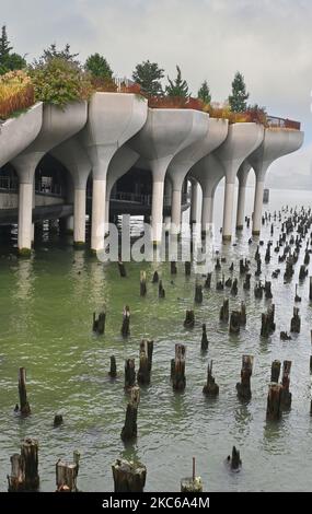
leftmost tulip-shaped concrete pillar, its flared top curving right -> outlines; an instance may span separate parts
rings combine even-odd
[[[33,143],[13,159],[20,179],[19,235],[20,254],[28,254],[32,244],[33,183],[43,156],[66,139],[79,132],[86,122],[86,102],[68,104],[63,109],[45,105],[41,131]]]

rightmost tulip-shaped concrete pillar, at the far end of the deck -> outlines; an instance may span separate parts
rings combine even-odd
[[[250,156],[249,163],[255,171],[256,187],[253,213],[253,234],[259,235],[263,190],[265,175],[270,164],[277,159],[298,150],[303,142],[303,132],[285,128],[266,128],[263,143]]]

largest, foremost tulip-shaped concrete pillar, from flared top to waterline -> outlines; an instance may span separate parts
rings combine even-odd
[[[127,93],[95,93],[82,131],[93,175],[91,249],[104,248],[107,170],[114,154],[147,119],[147,101]]]

